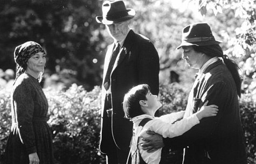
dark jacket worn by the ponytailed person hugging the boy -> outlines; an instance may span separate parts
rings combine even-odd
[[[203,118],[182,136],[164,139],[165,146],[185,148],[183,163],[247,163],[236,84],[220,60],[197,77],[185,115],[195,113],[207,100],[207,105],[219,107],[217,116]]]

